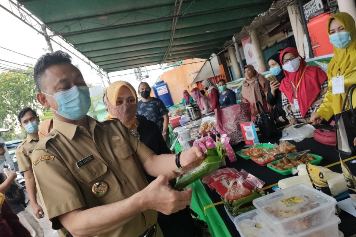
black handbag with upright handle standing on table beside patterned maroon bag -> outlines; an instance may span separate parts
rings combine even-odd
[[[273,115],[271,113],[266,113],[260,101],[256,102],[256,107],[258,111],[258,115],[256,116],[257,126],[260,129],[262,136],[265,136],[266,138],[280,136],[281,134],[277,130],[276,123],[274,123]]]

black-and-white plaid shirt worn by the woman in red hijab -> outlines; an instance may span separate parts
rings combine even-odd
[[[282,92],[282,107],[286,111],[286,117],[289,122],[292,120],[297,120],[298,123],[309,122],[310,117],[316,110],[320,107],[320,104],[323,102],[326,92],[328,91],[328,80],[325,80],[320,86],[320,93],[315,98],[314,102],[310,105],[307,114],[305,114],[305,119],[302,117],[299,109],[294,108],[294,104],[289,103],[287,96]]]

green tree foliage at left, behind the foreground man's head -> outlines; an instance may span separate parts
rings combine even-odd
[[[33,70],[29,70],[32,72]],[[36,99],[37,88],[32,75],[18,72],[0,74],[0,127],[18,126],[17,114],[24,107],[42,109]]]

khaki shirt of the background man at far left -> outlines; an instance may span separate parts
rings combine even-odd
[[[16,148],[17,165],[19,165],[19,171],[25,172],[32,169],[31,155],[38,142],[37,138],[34,138],[30,134],[27,134],[27,138],[21,142]]]

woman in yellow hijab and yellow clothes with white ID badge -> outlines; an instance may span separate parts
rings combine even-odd
[[[326,92],[323,103],[310,118],[310,121],[314,122],[313,124],[321,123],[321,117],[329,120],[334,114],[341,113],[345,92],[352,84],[356,84],[356,30],[354,18],[346,12],[336,13],[329,18],[327,28],[330,43],[334,45],[334,56],[330,60],[326,71],[329,89]],[[337,76],[339,77],[336,78]],[[333,80],[335,81],[334,86],[336,81],[339,81],[339,83],[341,81],[341,84],[338,84],[341,91],[336,86],[333,89]],[[342,90],[342,82],[345,91]],[[355,94],[352,97],[352,103],[356,104]],[[346,109],[349,108],[347,104]]]

